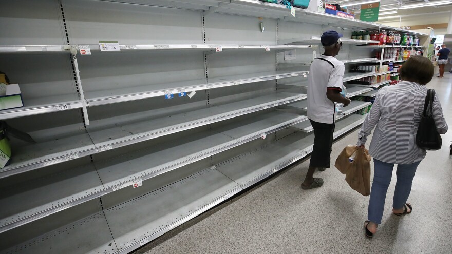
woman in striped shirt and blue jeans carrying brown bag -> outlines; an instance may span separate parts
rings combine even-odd
[[[416,132],[424,109],[427,88],[434,74],[431,61],[416,55],[400,68],[403,80],[397,86],[386,86],[376,94],[375,102],[358,134],[357,145],[364,147],[367,136],[376,125],[369,153],[375,165],[368,220],[364,223],[366,236],[372,237],[383,217],[386,192],[391,182],[392,169],[397,165],[397,183],[392,212],[409,214],[412,206],[407,202],[416,168],[425,158],[426,151],[416,145]],[[447,132],[443,110],[435,95],[432,115],[438,133]]]

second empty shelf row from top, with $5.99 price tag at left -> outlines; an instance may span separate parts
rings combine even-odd
[[[294,76],[306,77],[308,74],[309,71],[258,72],[243,75],[223,76],[216,79],[209,79],[209,81],[200,79],[164,84],[143,85],[136,87],[127,86],[126,88],[120,89],[85,92],[84,95],[87,106],[98,106],[111,103],[142,100],[158,96],[163,97],[168,94],[177,94],[181,92],[187,94],[192,91],[236,86],[240,84],[249,84],[260,81],[285,79],[287,77]],[[26,99],[24,100],[24,105],[25,107],[22,108],[0,111],[0,120],[81,108],[82,102],[79,95],[67,94],[60,96],[41,97],[37,99]]]

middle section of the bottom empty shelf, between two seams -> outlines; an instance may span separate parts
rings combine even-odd
[[[128,253],[241,191],[213,168],[105,211],[118,249]]]

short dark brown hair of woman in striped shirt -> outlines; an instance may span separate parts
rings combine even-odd
[[[434,67],[431,61],[424,56],[415,55],[400,68],[400,77],[405,81],[416,82],[425,85],[431,81],[434,74]]]

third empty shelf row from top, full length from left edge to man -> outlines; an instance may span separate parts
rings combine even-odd
[[[146,116],[144,112],[140,114],[140,120],[135,122],[130,122],[127,117],[112,119],[114,124],[110,126],[103,124],[105,120],[91,121],[86,131],[81,130],[77,134],[17,147],[11,164],[0,171],[0,178],[305,98],[306,94],[274,92],[261,97],[211,105],[158,119]]]

